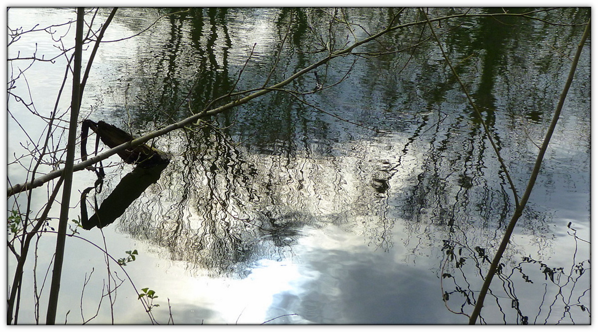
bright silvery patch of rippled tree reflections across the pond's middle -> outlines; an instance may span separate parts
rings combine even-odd
[[[305,227],[378,223],[368,227],[370,241],[392,245],[385,195],[367,185],[369,162],[343,174],[334,158],[246,155],[208,124],[178,140],[179,153],[118,229],[164,248],[167,259],[186,262],[191,273],[243,277],[257,260],[292,254]],[[359,175],[364,185],[355,190],[344,175]]]

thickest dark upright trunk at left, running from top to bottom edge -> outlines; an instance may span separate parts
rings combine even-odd
[[[60,277],[62,275],[62,262],[65,254],[66,225],[69,220],[69,203],[71,201],[71,187],[73,167],[75,164],[75,140],[77,139],[77,120],[79,118],[79,107],[81,106],[81,57],[83,53],[83,25],[84,8],[77,8],[77,30],[75,33],[75,62],[73,65],[73,87],[71,95],[71,122],[69,125],[69,137],[66,150],[66,165],[63,172],[64,186],[62,188],[62,201],[60,205],[60,221],[58,235],[56,237],[56,259],[52,271],[52,282],[50,285],[50,298],[48,300],[48,312],[46,324],[54,325],[56,321],[56,309],[58,306],[58,293],[60,291]]]

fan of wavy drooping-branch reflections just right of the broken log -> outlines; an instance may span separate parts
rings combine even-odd
[[[243,233],[251,232],[254,223],[242,216],[244,209],[238,206],[244,203],[237,197],[249,195],[248,201],[255,201],[252,198],[255,194],[249,189],[251,178],[246,174],[246,167],[251,165],[242,159],[235,162],[238,152],[234,146],[219,139],[218,131],[210,127],[199,128],[197,133],[190,131],[187,136],[189,148],[182,152],[183,158],[171,162],[183,167],[179,171],[185,176],[176,180],[182,181],[182,185],[162,189],[172,200],[170,212],[164,214],[166,219],[156,226],[148,225],[158,227],[155,235],[145,231],[138,233],[134,230],[134,222],[127,226],[127,232],[147,236],[152,242],[164,245],[175,260],[211,266],[217,273],[230,273],[231,265],[245,262],[251,253],[251,247],[246,247],[241,240],[246,237]],[[222,168],[225,172],[220,171]],[[167,169],[158,186],[172,182],[173,177],[178,176]],[[242,193],[239,190],[249,191]],[[147,211],[147,207],[137,211],[138,207],[133,205],[130,210],[132,214],[138,214]],[[139,219],[135,217],[134,220]]]

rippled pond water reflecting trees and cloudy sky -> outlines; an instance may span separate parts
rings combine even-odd
[[[99,48],[81,120],[140,136],[201,112],[229,91],[282,81],[326,57],[319,52],[326,47],[384,29],[399,9],[192,8],[160,19],[175,11],[117,11],[103,39],[114,42]],[[462,11],[432,8],[429,15]],[[108,13],[104,8],[96,20]],[[333,16],[352,23],[352,31],[343,20],[329,31]],[[536,16],[582,24],[589,10]],[[74,11],[60,8],[8,12],[9,26],[25,28],[74,19]],[[421,19],[415,8],[399,15],[401,23]],[[519,195],[584,30],[545,21],[468,17],[433,24]],[[74,25],[56,29],[71,36]],[[57,54],[56,42],[38,32],[23,35],[8,56],[32,53],[35,42],[38,54]],[[136,293],[148,287],[158,296],[151,313],[160,324],[466,324],[459,313],[471,313],[514,211],[507,177],[427,26],[396,30],[355,51],[359,57],[334,59],[316,69],[317,78],[308,73],[286,86],[294,95],[266,94],[155,139],[151,144],[172,156],[163,170],[132,172],[118,156],[105,161],[102,190],[92,190],[89,202],[107,202],[115,216],[102,229],[79,229],[80,238],[67,239],[57,322],[151,324]],[[41,115],[54,107],[65,63],[38,62],[26,72]],[[318,84],[332,86],[301,94]],[[26,85],[15,91],[25,94]],[[11,163],[26,153],[17,121],[33,140],[45,122],[10,98],[8,105]],[[66,97],[59,114],[68,106]],[[588,41],[486,297],[484,323],[590,323],[589,118]],[[65,140],[57,133],[51,144]],[[23,182],[27,167],[9,164],[10,183]],[[91,171],[75,173],[69,219],[81,216],[80,192],[96,180]],[[32,210],[39,210],[48,189],[33,192]],[[17,204],[25,206],[25,193],[9,198],[8,210]],[[126,251],[138,255],[124,266],[127,275],[114,262],[107,270],[102,251],[81,238],[117,259]],[[49,279],[42,282],[55,239],[41,236],[36,259],[28,260],[19,324],[35,324],[36,313],[45,321]],[[9,256],[9,286],[14,265]]]

